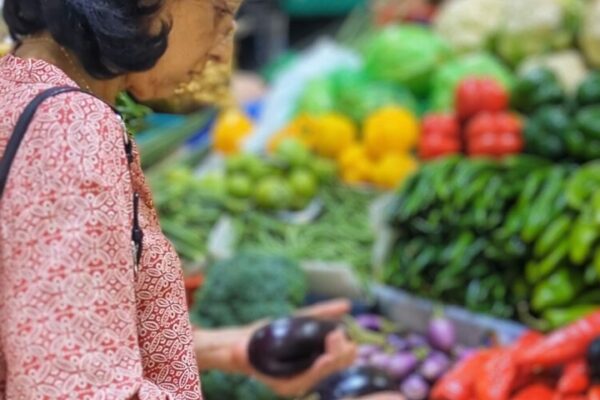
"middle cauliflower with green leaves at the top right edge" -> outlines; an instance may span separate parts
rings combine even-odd
[[[569,27],[578,0],[505,0],[498,53],[517,65],[526,57],[560,50],[573,40]]]

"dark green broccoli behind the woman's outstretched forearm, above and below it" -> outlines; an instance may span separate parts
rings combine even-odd
[[[190,316],[203,327],[240,326],[289,315],[306,294],[306,277],[297,263],[245,252],[208,269]],[[201,380],[207,400],[278,399],[261,383],[240,375],[211,371]]]

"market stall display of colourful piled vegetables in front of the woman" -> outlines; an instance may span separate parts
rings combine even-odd
[[[359,356],[310,398],[600,398],[600,2],[375,3],[251,100],[217,65],[159,106],[218,110],[120,99],[193,323],[347,296]],[[277,320],[250,359],[292,376],[336,326]],[[207,400],[277,399],[202,381]]]

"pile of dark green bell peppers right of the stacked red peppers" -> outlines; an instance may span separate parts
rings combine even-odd
[[[517,81],[513,103],[530,116],[528,153],[558,161],[600,158],[600,72],[590,73],[571,99],[551,71],[528,71]]]

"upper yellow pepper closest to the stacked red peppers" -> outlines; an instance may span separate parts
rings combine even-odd
[[[420,125],[409,110],[389,106],[370,115],[364,125],[365,147],[369,155],[379,159],[385,154],[402,154],[418,143]]]

